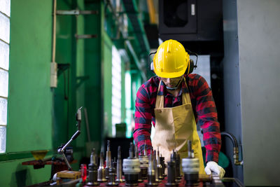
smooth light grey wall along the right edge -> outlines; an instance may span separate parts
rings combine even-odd
[[[278,186],[280,1],[238,0],[244,183]]]

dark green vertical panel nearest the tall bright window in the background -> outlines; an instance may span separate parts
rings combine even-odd
[[[85,16],[85,34],[97,34],[97,38],[85,40],[85,106],[87,107],[92,141],[100,144],[103,136],[102,95],[102,30],[104,5],[97,1],[86,4],[87,10],[98,11],[97,15]],[[98,148],[97,148],[98,149]]]

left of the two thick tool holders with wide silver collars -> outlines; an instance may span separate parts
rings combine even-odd
[[[134,158],[133,144],[130,143],[130,157],[123,160],[123,172],[125,173],[125,186],[138,186],[140,161]]]

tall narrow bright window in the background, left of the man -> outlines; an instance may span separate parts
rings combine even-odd
[[[116,123],[121,122],[122,68],[120,53],[112,48],[112,136],[116,136]]]

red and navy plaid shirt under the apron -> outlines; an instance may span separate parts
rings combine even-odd
[[[216,105],[212,97],[211,89],[205,79],[198,74],[189,74],[185,76],[185,78],[188,88],[183,81],[177,97],[174,97],[165,90],[163,82],[158,92],[158,85],[160,83],[160,78],[158,76],[152,77],[141,85],[137,92],[135,103],[134,141],[138,145],[139,153],[143,152],[146,141],[146,148],[148,148],[148,153],[150,153],[152,149],[151,122],[153,122],[155,126],[154,109],[157,93],[158,95],[165,96],[165,108],[167,108],[180,106],[182,104],[182,92],[188,92],[189,90],[197,125],[200,125],[203,130],[203,141],[207,150],[206,162],[218,162],[218,154],[221,149],[221,134]]]

